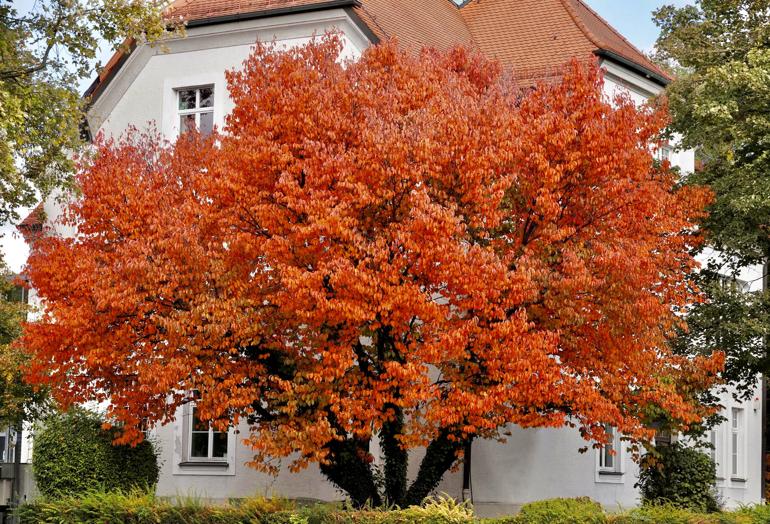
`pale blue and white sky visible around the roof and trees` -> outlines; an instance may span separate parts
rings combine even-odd
[[[413,0],[418,1],[418,0]],[[514,0],[509,0],[514,1]],[[652,12],[661,7],[661,5],[674,4],[681,7],[688,3],[684,0],[584,0],[594,9],[595,12],[609,22],[628,42],[635,45],[644,52],[649,52],[654,48],[655,40],[658,38],[658,27],[652,22]],[[24,12],[32,5],[32,0],[21,0],[14,2],[19,12]],[[99,48],[97,59],[104,65],[112,56],[109,44],[105,42]],[[80,82],[80,92],[84,92],[96,77],[94,73],[92,78],[84,78]],[[18,214],[25,218],[28,215],[28,209],[18,209]],[[0,225],[0,249],[2,249],[5,262],[8,263],[12,272],[20,272],[22,265],[26,262],[28,255],[27,245],[16,232],[15,226]]]

